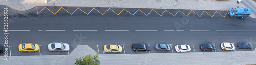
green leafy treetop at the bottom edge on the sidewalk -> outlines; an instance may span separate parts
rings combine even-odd
[[[99,65],[99,60],[98,60],[98,53],[96,55],[92,56],[92,54],[76,58],[76,65]]]

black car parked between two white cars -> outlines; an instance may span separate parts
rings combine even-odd
[[[211,43],[201,44],[200,49],[202,51],[208,51],[208,50],[214,51],[214,50],[216,50],[215,45],[211,44]]]

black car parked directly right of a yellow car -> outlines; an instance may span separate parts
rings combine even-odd
[[[134,51],[150,51],[150,44],[142,44],[142,43],[134,43],[132,44],[132,48]]]

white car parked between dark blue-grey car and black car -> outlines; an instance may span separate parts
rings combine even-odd
[[[190,52],[191,48],[189,45],[176,45],[175,50],[177,52]]]

